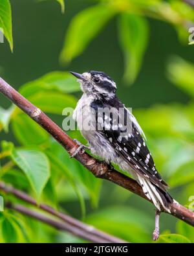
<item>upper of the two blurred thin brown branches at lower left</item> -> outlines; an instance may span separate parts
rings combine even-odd
[[[53,215],[55,217],[60,218],[63,220],[63,222],[69,224],[69,229],[67,231],[70,231],[72,228],[72,231],[74,231],[74,228],[78,229],[79,233],[81,234],[82,231],[82,238],[85,239],[87,236],[87,240],[91,242],[126,242],[122,239],[118,239],[117,237],[113,237],[111,235],[108,235],[107,233],[104,233],[98,229],[96,229],[93,226],[89,226],[87,224],[84,224],[83,222],[80,222],[79,220],[76,220],[75,218],[72,218],[69,215],[66,215],[65,213],[61,213],[59,211],[56,211],[56,209],[53,209],[52,207],[45,205],[45,204],[37,204],[36,200],[26,194],[23,191],[19,191],[18,189],[15,189],[14,187],[10,185],[6,185],[4,182],[0,182],[0,190],[4,191],[7,194],[12,194],[16,196],[17,198],[23,200],[24,202],[27,202],[28,204],[34,205],[38,207],[39,209],[42,209],[46,213],[49,213],[50,215]],[[8,204],[9,205],[9,204]],[[48,223],[49,224],[49,223]],[[71,232],[72,233],[72,232]]]

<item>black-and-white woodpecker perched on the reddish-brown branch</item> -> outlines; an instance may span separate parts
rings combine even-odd
[[[110,76],[102,71],[70,73],[76,76],[83,92],[72,117],[89,145],[79,143],[73,157],[86,147],[105,163],[129,172],[155,205],[153,240],[158,239],[160,212],[171,212],[173,198],[156,169],[140,124],[116,96],[116,83]]]

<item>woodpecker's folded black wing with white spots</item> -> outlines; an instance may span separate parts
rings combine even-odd
[[[98,104],[95,104],[94,106],[95,108],[99,107]],[[109,106],[109,108],[111,108],[111,106]],[[118,102],[116,109],[118,110],[118,108],[124,108],[124,105]],[[129,117],[131,122],[126,123],[126,117]],[[124,157],[131,168],[136,170],[137,174],[149,178],[149,180],[155,183],[155,185],[160,187],[162,190],[166,190],[167,184],[162,180],[160,174],[155,168],[153,157],[140,134],[140,126],[138,126],[135,117],[131,117],[133,117],[133,115],[131,115],[127,109],[124,111],[125,120],[123,122],[121,122],[119,118],[115,119],[115,116],[107,118],[103,115],[102,134],[109,139],[109,142],[113,145],[118,155]],[[125,126],[130,126],[129,133],[127,130],[122,129],[122,126],[124,126],[123,124],[125,124]]]

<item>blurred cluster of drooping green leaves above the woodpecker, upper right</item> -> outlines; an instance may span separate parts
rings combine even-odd
[[[142,65],[147,49],[149,29],[147,17],[171,23],[181,40],[187,41],[184,24],[194,21],[193,10],[182,1],[101,0],[72,18],[61,51],[61,62],[69,62],[81,54],[109,19],[118,16],[118,40],[124,52],[125,75],[132,84]]]

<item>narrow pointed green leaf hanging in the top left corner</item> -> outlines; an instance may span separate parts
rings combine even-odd
[[[8,0],[1,0],[0,2],[0,28],[3,29],[3,34],[10,44],[11,51],[13,51],[12,11]]]

